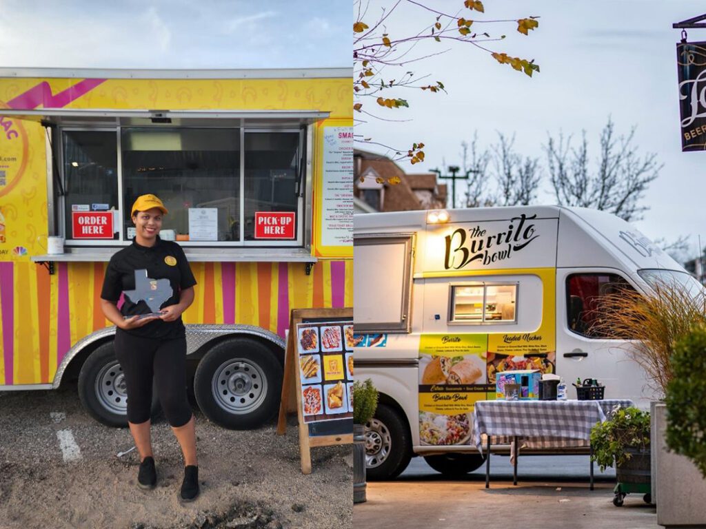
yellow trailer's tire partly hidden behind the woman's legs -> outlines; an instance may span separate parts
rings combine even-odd
[[[98,422],[117,428],[128,425],[127,391],[112,341],[95,348],[81,366],[78,398],[89,415]],[[152,387],[152,418],[160,415],[160,411],[157,391]]]

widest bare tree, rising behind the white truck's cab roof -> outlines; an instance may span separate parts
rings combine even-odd
[[[570,135],[565,138],[559,133],[558,139],[549,135],[544,150],[557,202],[602,209],[626,221],[641,219],[642,212],[650,208],[640,205],[640,199],[659,176],[662,164],[657,164],[657,154],[638,154],[634,135],[635,127],[616,138],[614,123],[608,118],[594,168],[590,168],[585,130],[578,147],[573,146]]]

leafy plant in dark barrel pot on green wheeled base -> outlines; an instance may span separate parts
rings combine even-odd
[[[616,466],[614,505],[621,506],[628,492],[643,492],[650,503],[650,413],[617,408],[592,428],[591,446],[602,471]]]

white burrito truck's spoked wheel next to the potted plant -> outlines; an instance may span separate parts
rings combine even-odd
[[[366,477],[370,481],[397,478],[412,458],[407,420],[392,406],[378,404],[365,427]]]

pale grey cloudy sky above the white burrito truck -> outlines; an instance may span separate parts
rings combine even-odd
[[[381,6],[390,3],[371,0],[366,20],[375,19]],[[651,238],[690,236],[692,253],[699,233],[702,245],[706,245],[706,152],[681,152],[676,77],[680,32],[671,28],[672,23],[705,13],[705,4],[678,0],[486,0],[485,15],[460,11],[461,0],[437,0],[433,5],[445,13],[460,12],[460,16],[477,20],[540,16],[539,28],[529,37],[516,31],[516,23],[476,23],[473,28],[507,35],[503,42],[491,43],[493,49],[535,59],[541,73],[530,79],[468,45],[419,44],[407,58],[450,51],[409,63],[402,71],[390,68],[385,75],[400,78],[407,70],[429,73],[424,84],[441,80],[448,95],[418,89],[402,92],[397,97],[407,99],[410,109],[395,111],[395,115],[409,116],[412,121],[370,120],[366,136],[395,148],[424,141],[426,163],[407,166],[410,172],[443,166],[443,162],[460,165],[460,143],[471,140],[476,130],[479,141],[486,143],[496,139],[497,130],[514,133],[517,150],[544,162],[542,144],[548,131],[580,135],[585,129],[589,147],[595,147],[600,130],[612,116],[618,132],[627,133],[635,126],[639,152],[655,152],[664,164],[645,197],[651,209],[635,224]],[[396,38],[433,23],[433,14],[408,4],[385,22],[390,37]],[[706,30],[690,30],[688,37],[690,41],[706,41]],[[381,115],[390,118],[393,113]],[[539,202],[556,201],[544,189]]]

